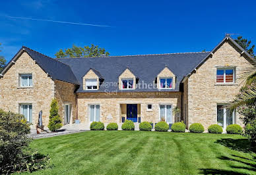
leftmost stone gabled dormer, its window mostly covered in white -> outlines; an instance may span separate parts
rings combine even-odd
[[[100,72],[90,68],[82,78],[82,88],[84,90],[97,90],[100,88],[100,84],[103,80],[104,79],[100,75]]]

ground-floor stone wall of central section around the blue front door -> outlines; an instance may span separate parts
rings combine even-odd
[[[108,93],[78,93],[78,118],[81,123],[88,124],[88,105],[100,105],[100,120],[106,124],[121,122],[122,104],[140,104],[141,122],[158,122],[159,105],[172,105],[181,109],[180,92],[122,92],[109,95]],[[152,111],[147,111],[148,104],[152,104]],[[124,108],[124,107],[123,107]],[[139,108],[138,108],[139,110]],[[173,121],[177,121],[174,117]]]

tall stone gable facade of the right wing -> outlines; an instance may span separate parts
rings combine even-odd
[[[203,124],[205,128],[210,124],[217,124],[217,104],[229,103],[236,97],[243,85],[241,74],[245,68],[253,67],[244,56],[231,41],[226,40],[212,57],[191,74],[184,83],[185,95],[183,95],[183,103],[187,102],[188,107],[185,113],[187,126],[195,122]],[[216,68],[218,67],[234,67],[236,82],[228,85],[217,84]],[[236,123],[242,125],[240,117],[236,112]]]

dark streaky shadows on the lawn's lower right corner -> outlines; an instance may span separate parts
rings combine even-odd
[[[219,143],[221,145],[224,145],[230,149],[234,149],[236,151],[241,151],[243,153],[256,153],[256,147],[251,146],[251,143],[248,139],[218,139],[215,143]],[[238,172],[238,169],[243,170],[249,170],[252,172],[256,171],[256,157],[253,157],[253,159],[248,159],[246,157],[241,157],[238,155],[231,155],[232,157],[218,157],[218,159],[223,161],[232,161],[232,162],[240,162],[241,164],[244,164],[245,166],[230,166],[230,168],[234,168],[233,170],[220,170],[220,169],[214,169],[214,168],[202,168],[201,174],[243,174],[241,172]],[[247,174],[247,173],[245,173]]]

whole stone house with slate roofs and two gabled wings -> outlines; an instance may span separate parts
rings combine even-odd
[[[52,59],[22,47],[0,74],[0,108],[48,125],[57,99],[65,126],[125,120],[241,124],[224,106],[243,85],[253,58],[225,36],[210,52]],[[75,124],[76,123],[76,124]],[[77,126],[79,126],[77,124]]]

